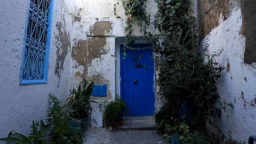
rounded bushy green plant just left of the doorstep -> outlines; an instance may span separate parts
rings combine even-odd
[[[118,117],[123,117],[125,109],[125,101],[118,97],[115,98],[115,101],[111,101],[109,104],[107,104],[104,110],[104,121],[106,126],[114,127],[117,125]]]

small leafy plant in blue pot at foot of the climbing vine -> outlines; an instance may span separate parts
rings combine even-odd
[[[173,125],[165,124],[165,131],[169,135],[167,136],[167,142],[179,144],[180,139],[188,134],[189,126],[184,122],[184,118],[183,116],[182,119],[174,119]]]

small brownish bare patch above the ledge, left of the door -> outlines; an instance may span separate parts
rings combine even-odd
[[[112,31],[111,24],[110,21],[95,22],[95,24],[91,26],[90,36],[104,36],[109,34]]]

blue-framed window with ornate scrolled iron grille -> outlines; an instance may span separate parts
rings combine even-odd
[[[53,0],[30,0],[20,85],[47,82],[52,11]]]

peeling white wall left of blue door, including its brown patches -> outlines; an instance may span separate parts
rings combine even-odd
[[[117,4],[117,17],[114,15],[114,4]],[[116,71],[119,52],[116,47],[116,37],[125,36],[124,27],[127,17],[121,0],[110,1],[74,1],[71,8],[77,21],[74,21],[72,35],[72,64],[69,88],[77,87],[84,78],[93,80],[96,84],[107,84],[106,98],[94,97],[100,104],[92,104],[92,127],[102,127],[104,104],[120,95],[120,81],[116,81],[120,71]],[[156,4],[153,0],[147,2],[147,9],[154,21]],[[136,22],[135,22],[135,26]],[[135,28],[134,35],[141,35]],[[119,49],[119,48],[118,48]],[[119,57],[120,58],[120,57]],[[117,86],[118,85],[118,86]]]

